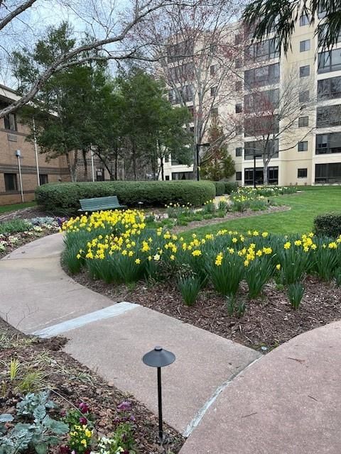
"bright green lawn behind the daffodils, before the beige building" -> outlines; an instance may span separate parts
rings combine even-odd
[[[307,188],[308,189],[308,188]],[[277,196],[276,202],[291,206],[291,210],[279,213],[261,214],[249,218],[235,219],[213,226],[195,228],[184,234],[216,233],[222,228],[245,232],[248,230],[268,231],[271,233],[307,233],[313,228],[313,219],[318,214],[341,211],[341,187],[318,187],[314,189]]]

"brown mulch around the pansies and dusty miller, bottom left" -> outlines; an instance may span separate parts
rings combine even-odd
[[[0,345],[0,361],[4,361],[4,365],[9,365],[11,358],[17,358],[22,367],[27,366],[31,370],[43,372],[41,382],[44,387],[51,389],[50,398],[60,406],[60,410],[67,410],[72,406],[78,406],[80,402],[85,402],[94,415],[97,433],[107,436],[115,428],[117,405],[129,401],[131,414],[136,419],[134,438],[139,454],[177,454],[180,451],[184,439],[177,431],[164,424],[167,442],[163,446],[159,445],[156,438],[157,416],[134,397],[123,394],[61,351],[65,339],[32,340],[0,319],[0,336],[4,333],[7,339],[11,339],[11,345],[5,345],[4,338],[1,338],[3,342]],[[13,413],[19,400],[20,393],[15,392],[13,388],[8,389],[5,395],[0,396],[1,413]]]

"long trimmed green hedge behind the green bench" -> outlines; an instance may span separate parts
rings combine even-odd
[[[163,206],[169,203],[201,206],[215,197],[212,182],[82,182],[48,183],[36,189],[36,201],[46,211],[55,214],[72,214],[80,208],[80,199],[117,196],[126,206]]]

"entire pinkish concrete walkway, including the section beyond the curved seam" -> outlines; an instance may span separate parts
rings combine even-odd
[[[242,345],[80,286],[60,268],[62,248],[57,234],[0,260],[1,315],[26,333],[63,334],[68,353],[155,412],[156,371],[141,357],[157,344],[173,351],[164,419],[188,436],[180,454],[341,453],[341,322],[258,360]]]

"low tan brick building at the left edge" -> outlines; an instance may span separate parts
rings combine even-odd
[[[13,90],[0,84],[0,106],[16,101]],[[38,184],[69,181],[65,157],[46,162],[38,146],[26,140],[29,128],[20,122],[20,111],[0,118],[0,205],[21,202],[17,150],[20,150],[23,200],[32,201]]]

